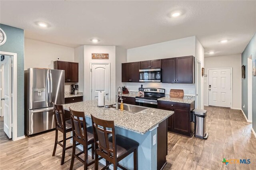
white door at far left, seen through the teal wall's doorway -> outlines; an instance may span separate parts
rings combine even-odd
[[[12,59],[5,56],[1,61],[3,68],[3,115],[4,115],[4,132],[9,138],[12,138]]]

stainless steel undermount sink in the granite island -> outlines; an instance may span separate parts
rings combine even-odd
[[[116,104],[107,105],[107,106],[105,106],[105,109],[116,110]],[[148,107],[142,107],[142,106],[136,106],[136,105],[124,104],[124,110],[123,111],[127,112],[127,113],[136,114],[136,113],[139,113],[139,112],[144,111],[146,109],[149,109],[149,108]],[[120,111],[120,103],[118,103],[118,110]]]

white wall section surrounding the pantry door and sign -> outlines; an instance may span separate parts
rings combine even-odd
[[[108,53],[109,59],[92,59],[92,53]],[[84,45],[84,100],[90,100],[90,63],[110,63],[110,101],[114,101],[116,92],[116,47]]]

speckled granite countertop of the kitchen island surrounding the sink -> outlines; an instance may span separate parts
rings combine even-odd
[[[115,103],[115,102],[111,102]],[[117,111],[98,107],[98,101],[83,101],[77,103],[69,103],[63,105],[65,110],[70,107],[75,111],[84,111],[86,117],[91,117],[91,114],[100,119],[114,121],[115,126],[131,130],[139,134],[145,134],[148,130],[154,128],[156,125],[174,114],[173,111],[166,111],[161,109],[148,108],[136,114],[127,113],[124,111]],[[106,105],[109,105],[106,102]]]

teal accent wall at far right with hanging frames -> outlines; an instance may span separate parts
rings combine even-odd
[[[242,79],[242,109],[248,118],[248,57],[252,55],[252,61],[256,59],[256,33],[242,53],[242,65],[245,65],[245,79]],[[252,128],[256,131],[256,76],[252,76]],[[243,105],[245,108],[243,108]]]

